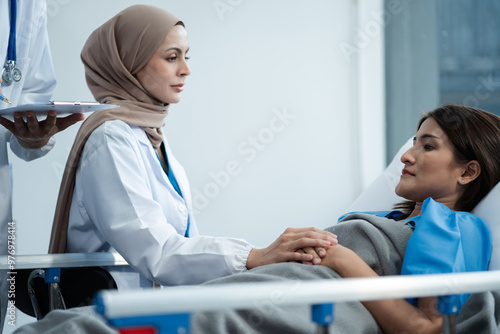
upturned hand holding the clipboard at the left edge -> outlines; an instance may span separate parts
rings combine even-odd
[[[41,122],[33,111],[26,111],[25,116],[26,122],[20,112],[14,113],[14,122],[0,116],[0,124],[16,136],[21,146],[32,149],[45,146],[50,137],[85,118],[80,113],[58,118],[54,110]]]

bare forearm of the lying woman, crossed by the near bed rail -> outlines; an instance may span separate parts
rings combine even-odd
[[[336,245],[327,249],[323,265],[344,278],[378,275],[352,250]],[[384,333],[440,333],[442,317],[436,297],[420,298],[418,307],[404,299],[363,302]]]

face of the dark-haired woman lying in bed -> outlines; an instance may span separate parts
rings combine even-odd
[[[418,130],[414,145],[401,156],[405,164],[396,194],[423,202],[432,197],[453,208],[461,191],[464,164],[455,162],[453,144],[438,123],[429,118]]]

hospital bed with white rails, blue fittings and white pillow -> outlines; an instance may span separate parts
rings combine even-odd
[[[401,200],[394,194],[394,187],[402,169],[399,157],[411,144],[409,140],[400,149],[387,169],[354,201],[348,211],[379,210],[391,207]],[[96,309],[112,326],[123,333],[188,333],[192,312],[254,307],[259,303],[269,302],[270,298],[279,292],[280,298],[273,298],[273,303],[311,305],[311,320],[317,323],[319,333],[327,333],[328,325],[335,318],[335,303],[439,296],[438,309],[445,320],[443,333],[453,333],[453,319],[460,309],[450,302],[455,300],[450,296],[500,290],[499,201],[500,184],[474,210],[476,215],[489,224],[491,230],[493,249],[487,272],[310,281],[301,282],[300,289],[291,289],[280,282],[247,283],[241,286],[172,287],[149,291],[106,290],[98,294]],[[63,303],[54,302],[58,300],[60,293],[57,288],[61,279],[57,275],[59,268],[112,265],[126,265],[126,262],[119,255],[109,253],[16,258],[16,269],[44,271],[44,279],[53,291],[49,300],[51,309],[65,307]],[[0,270],[2,269],[9,269],[7,257],[0,257]]]

